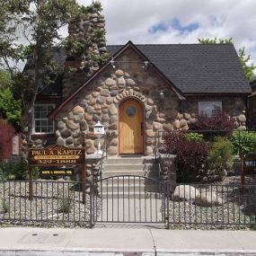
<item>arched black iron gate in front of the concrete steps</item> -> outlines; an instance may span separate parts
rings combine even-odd
[[[147,177],[104,178],[100,188],[92,188],[92,224],[165,223],[169,219],[168,190],[163,182]]]

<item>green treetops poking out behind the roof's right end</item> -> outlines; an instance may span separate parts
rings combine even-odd
[[[229,39],[198,39],[199,40],[199,43],[201,44],[210,44],[210,43],[213,43],[213,44],[216,44],[216,43],[233,43],[233,38],[229,38]],[[253,70],[256,69],[256,66],[252,63],[250,64],[250,55],[247,55],[245,54],[245,49],[244,47],[242,49],[238,49],[238,57],[240,59],[240,62],[241,62],[241,65],[243,66],[243,70],[244,70],[244,74],[247,78],[247,80],[249,82],[252,81],[252,78],[254,76],[254,73],[253,73]]]

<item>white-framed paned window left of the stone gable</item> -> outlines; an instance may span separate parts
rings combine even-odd
[[[33,111],[33,133],[54,133],[54,120],[47,118],[48,114],[55,108],[54,104],[35,104]]]

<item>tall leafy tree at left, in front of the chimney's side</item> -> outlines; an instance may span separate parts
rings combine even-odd
[[[61,42],[59,29],[77,17],[80,7],[75,0],[0,0],[0,4],[1,63],[12,76],[14,90],[22,97],[30,138],[34,102],[40,88],[50,83],[49,73],[54,69],[49,49]],[[17,45],[24,39],[26,43]],[[29,57],[33,74],[16,73],[10,64]]]

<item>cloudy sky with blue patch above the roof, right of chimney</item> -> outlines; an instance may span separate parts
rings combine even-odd
[[[91,4],[92,0],[77,0]],[[109,44],[233,38],[256,64],[255,0],[101,0]]]

